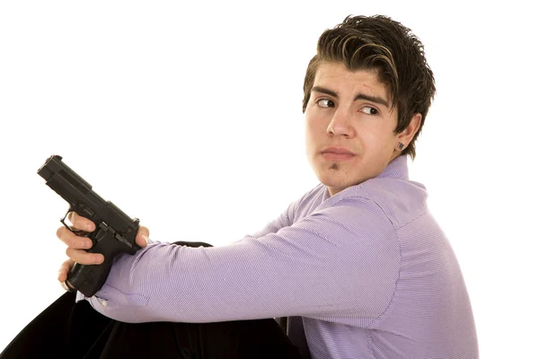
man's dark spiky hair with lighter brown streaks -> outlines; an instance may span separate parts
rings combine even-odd
[[[316,70],[323,62],[344,64],[350,71],[376,70],[379,81],[391,93],[392,109],[397,109],[395,135],[410,125],[413,115],[421,114],[417,133],[402,151],[402,154],[415,158],[415,141],[436,92],[434,76],[420,39],[400,22],[386,16],[347,16],[318,39],[316,55],[305,74],[304,112]]]

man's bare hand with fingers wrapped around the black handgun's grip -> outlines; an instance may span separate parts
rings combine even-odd
[[[71,223],[73,223],[71,228],[74,230],[82,230],[84,232],[95,231],[95,224],[88,218],[77,215],[75,212],[70,212],[67,218]],[[141,248],[145,248],[148,245],[147,238],[149,235],[150,231],[146,227],[140,226],[138,228],[135,241]],[[60,283],[63,284],[66,282],[67,273],[69,273],[71,267],[75,265],[75,262],[84,265],[102,264],[104,258],[101,253],[88,253],[85,251],[92,248],[91,239],[77,236],[74,232],[69,231],[65,226],[58,228],[57,237],[60,239],[60,241],[66,243],[66,255],[70,258],[62,263],[60,270],[58,270],[58,281]]]

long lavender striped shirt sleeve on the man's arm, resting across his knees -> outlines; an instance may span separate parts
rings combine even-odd
[[[150,245],[122,255],[87,299],[130,323],[354,316],[367,325],[391,301],[400,250],[381,211],[352,205],[223,247]]]

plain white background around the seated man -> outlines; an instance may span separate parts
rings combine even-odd
[[[63,293],[68,206],[36,174],[51,154],[154,240],[235,241],[318,183],[305,68],[325,29],[376,13],[420,37],[436,76],[411,179],[461,264],[482,358],[539,357],[539,30],[515,1],[1,2],[0,351]]]

